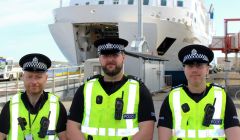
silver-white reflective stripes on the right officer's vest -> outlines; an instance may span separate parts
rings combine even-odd
[[[219,119],[221,118],[222,113],[222,97],[223,93],[221,88],[213,87],[214,88],[214,98],[216,98],[215,102],[215,112],[212,119]],[[204,130],[184,130],[181,128],[182,124],[182,108],[181,108],[181,101],[180,101],[180,88],[175,89],[173,94],[173,108],[175,113],[175,128],[173,128],[172,135],[178,138],[196,138],[198,134],[198,138],[216,138],[216,137],[224,137],[224,130],[220,128],[220,125],[214,125],[213,129],[204,129]]]

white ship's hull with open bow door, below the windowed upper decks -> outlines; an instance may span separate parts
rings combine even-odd
[[[54,11],[55,23],[50,24],[49,29],[68,61],[73,65],[79,65],[86,59],[97,57],[93,42],[106,34],[106,36],[124,38],[131,44],[138,33],[137,11],[136,5],[85,5],[58,8]],[[162,12],[174,14],[161,15]],[[176,18],[182,17],[186,12],[183,8],[172,11],[167,7],[143,7],[143,36],[148,43],[148,53],[167,60],[166,74],[178,71],[182,73],[183,67],[177,57],[182,47],[193,43],[209,45],[211,42],[209,35],[193,27],[189,17]],[[106,34],[101,33],[101,30],[106,28],[111,29],[105,32]],[[132,51],[133,48],[129,45],[126,50]],[[177,80],[173,79],[173,83],[175,81]]]

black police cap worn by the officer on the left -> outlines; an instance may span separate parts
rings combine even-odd
[[[43,54],[31,53],[23,56],[19,65],[23,71],[46,72],[51,67],[51,60]]]

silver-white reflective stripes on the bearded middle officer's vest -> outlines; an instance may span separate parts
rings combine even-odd
[[[92,100],[92,90],[93,84],[96,79],[90,80],[86,84],[86,96],[85,96],[85,114],[86,117],[84,122],[81,125],[81,131],[88,135],[99,135],[99,136],[132,136],[139,131],[139,128],[134,128],[134,123],[132,119],[127,119],[126,121],[126,128],[96,128],[96,127],[89,127],[90,121],[90,112],[91,112],[91,100]],[[127,104],[127,111],[126,114],[133,114],[134,113],[134,106],[136,101],[136,94],[137,94],[137,81],[129,80],[129,93],[128,94],[128,104]],[[108,133],[106,133],[108,132]]]

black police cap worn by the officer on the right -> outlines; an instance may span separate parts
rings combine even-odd
[[[183,64],[207,63],[213,60],[214,54],[206,46],[193,44],[182,48],[178,53],[178,59]]]

